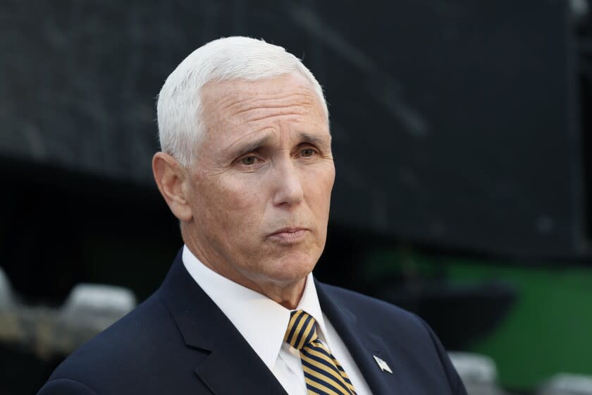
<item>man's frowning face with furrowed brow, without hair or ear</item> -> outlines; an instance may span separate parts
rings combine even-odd
[[[246,286],[304,279],[325,245],[335,179],[312,85],[300,74],[211,83],[202,103],[208,130],[185,184],[186,243]]]

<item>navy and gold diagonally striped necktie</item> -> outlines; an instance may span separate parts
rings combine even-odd
[[[300,351],[309,394],[355,395],[345,370],[316,335],[316,321],[304,310],[292,311],[284,341]]]

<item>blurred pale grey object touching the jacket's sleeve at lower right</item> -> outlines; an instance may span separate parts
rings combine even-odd
[[[448,353],[468,395],[504,395],[498,387],[498,369],[488,356],[471,353]]]

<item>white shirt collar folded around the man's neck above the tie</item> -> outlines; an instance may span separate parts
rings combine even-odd
[[[267,296],[209,269],[193,255],[187,245],[183,246],[183,264],[195,282],[218,305],[271,370],[276,364],[283,344],[285,330],[290,321],[290,310]],[[321,331],[320,336],[324,335],[326,339],[327,330],[312,273],[307,276],[304,293],[296,309],[302,309],[312,315]],[[258,324],[254,325],[253,322]]]

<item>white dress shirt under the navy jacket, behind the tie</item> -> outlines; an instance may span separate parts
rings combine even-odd
[[[230,281],[209,269],[192,254],[187,245],[183,247],[183,264],[195,282],[211,300],[214,300],[259,358],[269,367],[285,391],[290,395],[307,394],[300,351],[283,341],[290,321],[290,310],[267,296]],[[307,277],[304,293],[295,310],[304,310],[314,317],[319,340],[343,366],[357,394],[371,394],[366,380],[359,372],[347,347],[321,311],[312,274]],[[257,325],[254,325],[254,322],[257,322]]]

